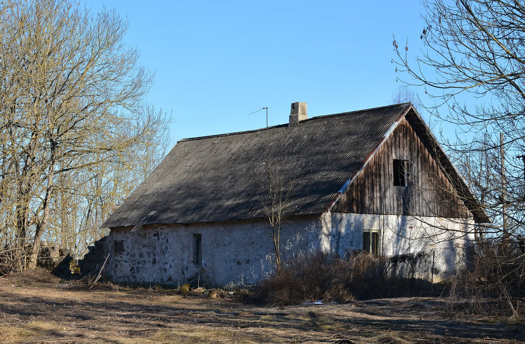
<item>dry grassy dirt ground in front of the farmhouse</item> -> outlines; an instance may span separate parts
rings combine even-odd
[[[250,305],[169,290],[65,286],[46,270],[0,278],[0,343],[514,343],[525,324],[443,311],[446,299]]]

